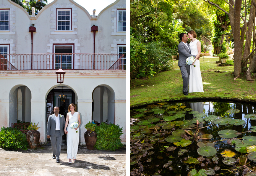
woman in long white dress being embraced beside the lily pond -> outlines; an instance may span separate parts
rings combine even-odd
[[[188,93],[192,92],[204,92],[203,81],[200,70],[199,56],[201,54],[201,43],[196,39],[196,32],[191,30],[188,32],[190,38],[190,50],[192,55],[196,55],[196,61],[190,66],[190,76],[188,81]],[[194,65],[196,67],[194,67]]]

